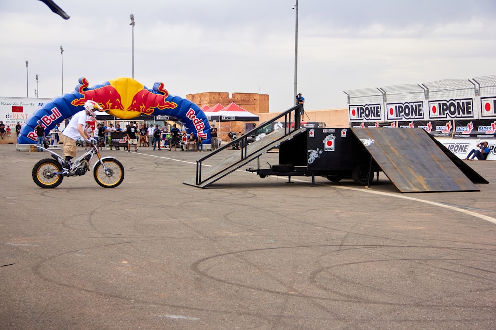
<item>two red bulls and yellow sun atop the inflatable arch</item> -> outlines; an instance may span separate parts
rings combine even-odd
[[[86,78],[79,79],[77,91],[82,95],[72,101],[81,106],[88,100],[97,102],[108,114],[122,119],[132,119],[140,114],[151,115],[156,109],[175,109],[175,102],[166,101],[169,92],[164,83],[158,83],[153,91],[132,78],[118,78],[94,88],[88,88]]]

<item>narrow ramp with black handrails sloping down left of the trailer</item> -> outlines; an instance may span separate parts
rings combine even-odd
[[[257,157],[260,157],[265,152],[278,146],[282,142],[288,141],[293,137],[305,132],[307,129],[299,128],[300,126],[299,124],[294,125],[295,127],[298,127],[297,129],[291,128],[289,125],[292,118],[296,119],[295,122],[298,123],[300,122],[300,109],[301,106],[295,106],[281,113],[279,116],[260,124],[258,128],[251,130],[250,132],[239,137],[238,139],[231,141],[230,143],[227,143],[222,148],[212,152],[210,155],[203,157],[200,160],[197,160],[196,176],[184,181],[183,183],[186,185],[191,185],[199,188],[205,188],[208,185],[214,183],[215,181],[225,177],[229,173],[236,171],[237,169],[249,163],[250,161],[256,159]],[[268,127],[269,125],[272,125],[272,123],[274,123],[277,120],[280,120],[281,118],[283,118],[282,128],[276,129],[270,132],[269,134],[267,134],[265,137],[249,145],[246,145],[247,143],[245,141],[247,140],[248,136],[251,136],[251,134],[259,130],[260,128]],[[208,158],[219,152],[229,149],[234,143],[240,143],[240,145],[242,146],[241,150],[236,151],[234,153],[232,153],[232,151],[229,151],[231,152],[231,154],[228,157],[224,158],[223,160],[217,162],[215,165],[212,165],[210,167],[206,167],[203,164],[205,160],[207,160]]]

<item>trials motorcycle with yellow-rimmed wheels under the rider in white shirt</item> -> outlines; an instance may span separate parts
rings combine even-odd
[[[33,180],[41,188],[55,188],[59,186],[64,177],[85,175],[90,171],[93,156],[98,161],[93,165],[93,177],[97,184],[103,188],[117,187],[124,180],[124,166],[114,157],[102,157],[95,145],[96,141],[90,142],[90,148],[80,157],[69,163],[69,170],[64,170],[66,160],[55,152],[45,149],[51,153],[52,158],[38,161],[33,167]]]

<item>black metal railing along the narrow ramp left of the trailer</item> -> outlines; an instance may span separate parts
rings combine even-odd
[[[232,148],[233,145],[238,144],[240,145],[240,158],[238,160],[239,163],[246,158],[262,151],[264,149],[264,146],[261,146],[259,148],[250,148],[249,152],[247,151],[248,147],[248,139],[251,138],[253,135],[256,135],[257,132],[262,132],[262,131],[267,131],[267,134],[270,134],[274,132],[274,125],[276,122],[280,122],[282,124],[282,127],[280,129],[284,130],[284,136],[300,129],[300,118],[301,114],[303,113],[303,106],[302,105],[296,105],[282,113],[280,113],[277,117],[274,117],[270,120],[267,120],[263,122],[262,124],[258,125],[254,129],[246,132],[243,134],[241,137],[232,140],[226,144],[224,144],[222,147],[212,151],[210,154],[207,156],[200,158],[199,160],[196,161],[196,185],[199,186],[205,181],[213,178],[216,176],[218,173],[215,173],[208,178],[203,179],[202,178],[202,164],[205,160],[209,159],[210,157],[218,154],[219,152],[222,152],[223,150]],[[293,120],[291,120],[293,119]],[[294,125],[292,123],[294,122]],[[235,164],[236,164],[235,163]]]

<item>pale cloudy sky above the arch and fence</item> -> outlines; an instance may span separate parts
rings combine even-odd
[[[54,98],[132,77],[171,95],[269,95],[293,106],[296,0],[0,1],[0,96]],[[306,110],[343,91],[496,74],[494,0],[299,0],[297,89]],[[64,52],[60,53],[62,45]],[[26,60],[29,61],[26,71]]]

